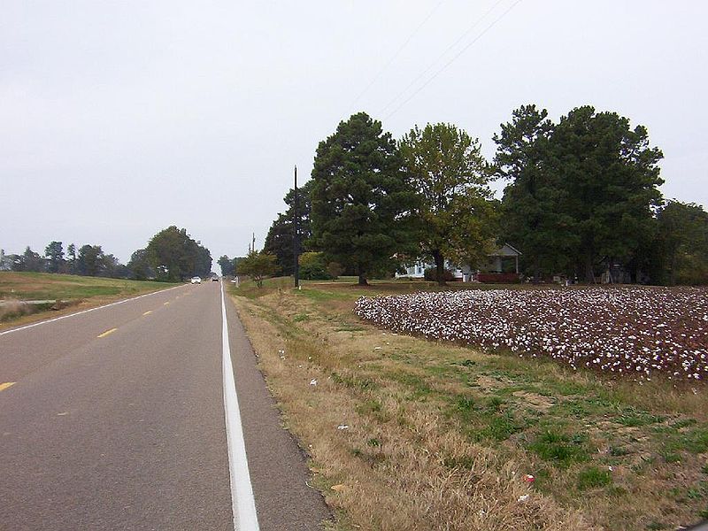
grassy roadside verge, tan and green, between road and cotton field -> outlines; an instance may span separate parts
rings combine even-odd
[[[708,514],[704,387],[391,334],[353,314],[357,295],[235,297],[336,529],[638,531]]]

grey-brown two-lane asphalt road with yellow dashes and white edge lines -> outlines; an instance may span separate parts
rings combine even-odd
[[[295,531],[328,516],[217,282],[0,334],[0,456],[0,529]]]

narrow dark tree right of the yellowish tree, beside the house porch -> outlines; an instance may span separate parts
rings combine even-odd
[[[523,105],[494,135],[496,176],[508,181],[501,208],[502,238],[523,251],[536,281],[543,273],[566,270],[577,240],[570,231],[572,219],[560,208],[566,190],[551,164],[554,126],[547,117],[545,109]]]

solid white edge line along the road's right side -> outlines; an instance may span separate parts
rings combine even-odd
[[[221,353],[224,373],[224,411],[227,425],[228,471],[231,481],[231,510],[236,531],[258,531],[258,515],[253,488],[250,484],[249,462],[243,441],[241,413],[238,408],[234,366],[228,344],[227,307],[224,284],[221,283]]]

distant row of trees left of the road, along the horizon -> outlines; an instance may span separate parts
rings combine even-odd
[[[212,255],[193,240],[184,228],[167,227],[150,238],[147,247],[136,250],[123,265],[101,245],[50,242],[44,254],[29,247],[21,255],[4,255],[1,270],[80,274],[118,279],[182,281],[193,275],[208,276]]]

